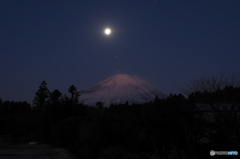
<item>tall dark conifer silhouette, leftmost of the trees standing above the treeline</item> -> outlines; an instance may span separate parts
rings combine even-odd
[[[33,105],[36,108],[42,109],[46,105],[49,97],[50,97],[50,92],[47,88],[47,82],[42,81],[38,91],[35,93],[35,97],[33,99]]]

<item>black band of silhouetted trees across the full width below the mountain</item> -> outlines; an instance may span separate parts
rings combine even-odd
[[[240,148],[240,87],[110,107],[79,103],[74,85],[68,92],[50,92],[43,81],[33,107],[0,100],[0,135],[60,146],[83,159],[201,159],[210,150]]]

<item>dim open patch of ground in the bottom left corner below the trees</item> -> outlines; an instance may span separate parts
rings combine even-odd
[[[77,157],[67,150],[46,144],[1,144],[0,159],[77,159]]]

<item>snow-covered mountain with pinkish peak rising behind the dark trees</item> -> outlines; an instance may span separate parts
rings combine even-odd
[[[156,95],[165,98],[167,93],[155,86],[131,75],[117,74],[96,84],[92,88],[80,91],[80,102],[89,106],[95,106],[96,102],[102,102],[104,106],[110,104],[142,104],[153,101]]]

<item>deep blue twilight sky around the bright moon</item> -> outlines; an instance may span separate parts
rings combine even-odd
[[[0,98],[32,102],[118,72],[168,93],[240,72],[239,0],[0,0]],[[105,27],[112,34],[103,34]]]

